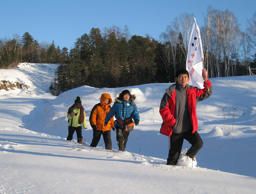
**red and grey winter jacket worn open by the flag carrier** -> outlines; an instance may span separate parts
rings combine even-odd
[[[207,84],[209,91],[207,89]],[[212,84],[207,80],[207,84],[204,82],[204,89],[198,89],[187,84],[187,102],[189,107],[190,118],[193,126],[192,133],[198,130],[198,119],[196,116],[196,104],[198,101],[202,101],[212,94]],[[172,127],[176,123],[175,119],[175,103],[176,103],[176,84],[170,86],[164,94],[160,104],[160,115],[163,119],[163,124],[160,129],[160,133],[166,136],[172,135]]]

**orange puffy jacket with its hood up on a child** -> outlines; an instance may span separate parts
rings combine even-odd
[[[104,104],[104,101],[109,99],[108,104]],[[110,121],[108,122],[108,125],[104,127],[105,118],[108,112],[111,109],[110,104],[112,103],[112,98],[109,94],[103,93],[100,97],[100,103],[95,104],[93,107],[91,113],[90,113],[90,126],[96,125],[98,127],[97,130],[111,130],[112,127],[114,127],[114,118],[112,117]]]

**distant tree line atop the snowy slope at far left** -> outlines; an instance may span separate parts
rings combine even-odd
[[[17,64],[28,63],[64,63],[68,59],[68,49],[62,50],[55,46],[54,41],[38,43],[29,32],[25,32],[20,38],[13,35],[13,38],[0,39],[0,68],[9,69]]]

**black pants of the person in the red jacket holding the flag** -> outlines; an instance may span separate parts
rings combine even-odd
[[[197,131],[195,133],[192,133],[192,130],[186,131],[182,134],[173,133],[170,136],[171,145],[169,149],[167,165],[177,164],[184,139],[186,139],[191,144],[191,147],[186,153],[186,156],[189,156],[190,158],[195,157],[198,151],[203,147],[203,141]]]

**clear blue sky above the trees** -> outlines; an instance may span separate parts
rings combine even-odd
[[[233,12],[242,30],[256,12],[256,0],[0,0],[0,38],[29,32],[39,43],[54,41],[70,50],[91,28],[127,25],[131,35],[158,40],[181,13],[193,13],[202,26],[209,5]]]

